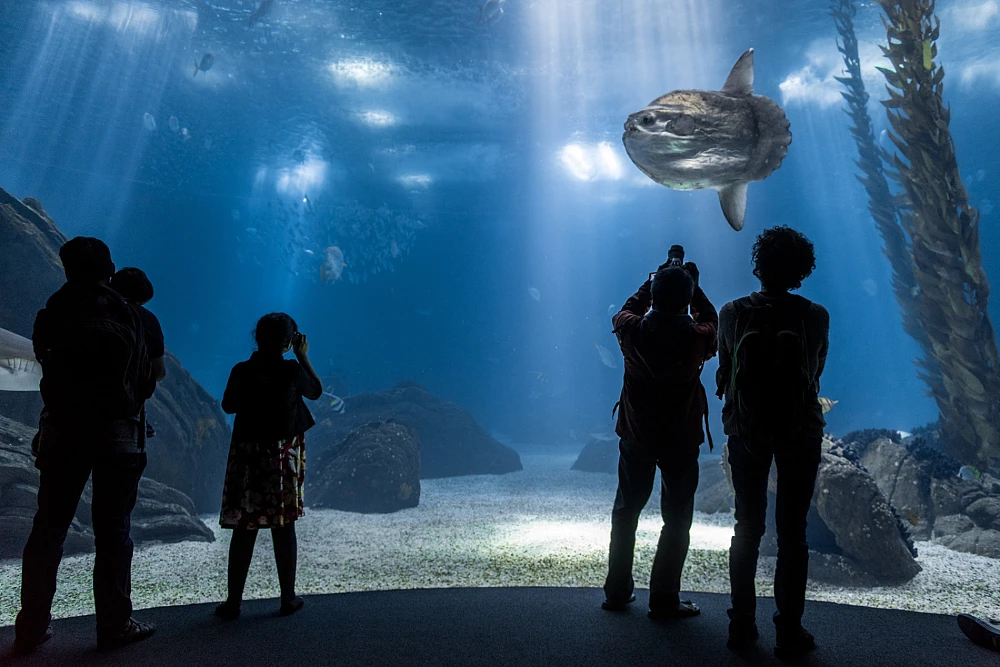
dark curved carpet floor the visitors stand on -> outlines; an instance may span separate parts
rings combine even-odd
[[[771,665],[774,627],[770,599],[758,610],[758,648],[725,647],[727,598],[695,594],[702,615],[653,622],[646,591],[624,613],[600,608],[593,589],[484,588],[345,593],[309,596],[294,616],[276,615],[275,600],[244,603],[226,623],[213,605],[136,613],[157,633],[145,642],[101,653],[92,616],[56,621],[56,636],[28,657],[7,647],[13,628],[0,628],[3,665]],[[1000,654],[970,643],[951,616],[810,602],[806,626],[819,648],[798,661],[830,667],[978,667],[1000,665]]]

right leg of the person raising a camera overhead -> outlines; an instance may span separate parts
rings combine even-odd
[[[698,490],[698,450],[659,462],[663,528],[649,580],[649,609],[674,611],[680,603],[681,571],[691,544],[694,494]],[[694,611],[695,608],[692,608]]]

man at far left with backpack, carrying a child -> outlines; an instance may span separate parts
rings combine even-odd
[[[49,626],[63,542],[93,473],[94,606],[97,640],[112,648],[148,637],[131,618],[130,515],[146,467],[140,413],[155,389],[144,327],[108,287],[108,247],[77,237],[59,249],[66,284],[35,319],[45,408],[33,449],[41,475],[38,512],[24,548],[15,649],[33,650]]]

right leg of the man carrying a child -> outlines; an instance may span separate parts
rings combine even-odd
[[[98,636],[113,636],[132,617],[132,509],[145,454],[115,454],[94,464],[94,608]]]

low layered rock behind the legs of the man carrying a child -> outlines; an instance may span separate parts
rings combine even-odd
[[[38,508],[39,473],[31,455],[33,436],[34,429],[0,417],[0,558],[21,557]],[[66,536],[67,555],[94,550],[92,498],[88,481]],[[131,534],[136,544],[215,540],[189,497],[145,477],[139,482]]]

